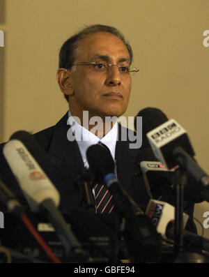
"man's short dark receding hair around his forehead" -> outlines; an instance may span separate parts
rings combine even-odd
[[[120,38],[127,47],[127,50],[130,54],[130,63],[132,62],[132,47],[125,40],[123,33],[121,33],[121,31],[118,31],[118,29],[114,27],[96,24],[82,29],[82,31],[79,31],[79,33],[75,33],[75,35],[71,36],[70,38],[68,38],[68,40],[65,41],[65,43],[63,43],[63,46],[61,47],[61,50],[59,52],[59,68],[69,69],[75,61],[75,50],[80,40],[90,35],[91,33],[100,32],[112,33]],[[68,101],[68,95],[65,95],[65,99]]]

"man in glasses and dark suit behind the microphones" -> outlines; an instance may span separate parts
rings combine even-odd
[[[131,149],[130,136],[127,135],[126,141],[122,140],[120,134],[125,129],[116,122],[116,118],[124,114],[130,99],[131,73],[137,71],[131,69],[131,63],[132,48],[114,27],[87,27],[61,47],[56,76],[68,100],[69,111],[55,126],[36,133],[34,137],[46,152],[44,170],[59,190],[59,209],[63,213],[82,207],[75,176],[88,167],[86,150],[98,142],[102,142],[111,152],[121,186],[142,209],[146,209],[149,197],[136,157],[140,154],[141,160],[155,158],[145,144]],[[83,117],[84,111],[88,112],[87,122]],[[101,120],[96,124],[92,120],[94,117]],[[110,125],[107,124],[107,117],[114,117]],[[69,130],[75,135],[75,140],[72,140]],[[25,203],[3,155],[0,174],[1,179]],[[105,207],[100,212],[111,212],[112,207]],[[187,203],[186,210],[191,215],[193,206]]]

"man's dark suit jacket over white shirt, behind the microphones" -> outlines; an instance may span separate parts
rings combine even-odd
[[[55,126],[34,134],[38,144],[46,152],[43,170],[58,188],[61,195],[59,209],[66,214],[81,207],[81,195],[79,195],[79,188],[75,186],[74,178],[75,174],[84,169],[77,142],[68,141],[67,132],[70,126],[67,125],[67,120],[68,113]],[[119,125],[119,134],[121,128],[123,127]],[[143,142],[140,149],[130,149],[129,144],[129,141],[122,141],[119,135],[116,143],[118,180],[127,190],[127,193],[145,210],[149,197],[138,162],[141,160],[156,160],[156,158],[153,156],[147,142]],[[28,207],[17,181],[3,157],[2,149],[3,144],[0,145],[0,177],[17,195],[17,198],[24,203],[24,206]],[[175,196],[171,191],[167,193],[167,198],[169,199],[163,200],[175,204]],[[193,204],[185,202],[185,211],[189,215],[193,214],[193,209]]]

